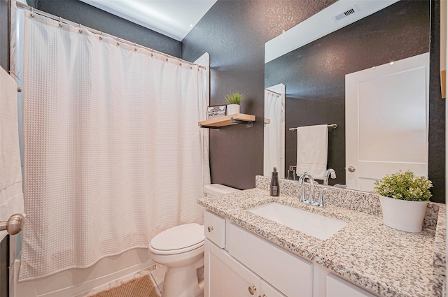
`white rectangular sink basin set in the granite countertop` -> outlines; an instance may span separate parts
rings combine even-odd
[[[275,202],[250,208],[248,212],[323,240],[330,238],[347,224],[339,219],[316,215]]]

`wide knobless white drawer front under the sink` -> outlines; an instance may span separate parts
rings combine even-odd
[[[235,224],[227,232],[231,256],[288,297],[312,296],[313,263]]]

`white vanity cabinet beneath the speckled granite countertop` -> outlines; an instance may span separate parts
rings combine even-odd
[[[374,297],[208,210],[204,229],[204,297]]]

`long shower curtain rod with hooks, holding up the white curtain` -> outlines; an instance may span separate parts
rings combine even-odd
[[[127,41],[126,39],[118,38],[118,36],[113,36],[111,34],[104,33],[103,31],[99,31],[97,29],[92,29],[90,27],[86,27],[83,24],[77,24],[76,22],[72,22],[71,20],[66,20],[66,19],[64,19],[62,17],[57,17],[56,15],[52,15],[51,13],[45,13],[45,11],[38,10],[36,8],[33,8],[32,6],[29,6],[29,5],[21,3],[21,2],[16,2],[16,6],[18,8],[27,9],[31,13],[36,13],[38,15],[42,15],[43,17],[48,17],[48,18],[50,18],[52,20],[56,20],[58,22],[63,22],[64,24],[69,24],[69,25],[71,25],[73,27],[79,27],[79,28],[82,28],[82,29],[86,29],[86,30],[92,32],[93,34],[98,34],[98,35],[101,35],[101,36],[110,37],[110,38],[116,39],[116,41],[119,41],[121,43],[126,43],[128,45],[132,45],[132,46],[137,47],[137,48],[143,48],[144,50],[149,50],[150,52],[153,52],[155,54],[161,55],[161,56],[163,56],[165,58],[175,59],[177,61],[180,61],[183,64],[199,66],[199,68],[203,68],[203,69],[206,68],[204,66],[200,66],[200,65],[194,64],[194,63],[192,63],[190,61],[186,61],[186,60],[180,59],[178,57],[173,57],[173,56],[165,54],[163,52],[159,52],[158,50],[153,50],[152,48],[147,48],[144,45],[139,45],[137,43],[133,43],[131,41]]]

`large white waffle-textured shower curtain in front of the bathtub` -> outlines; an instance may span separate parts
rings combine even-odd
[[[204,69],[25,11],[20,280],[201,223]]]

